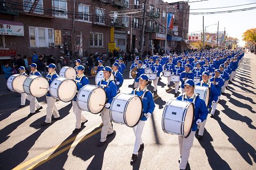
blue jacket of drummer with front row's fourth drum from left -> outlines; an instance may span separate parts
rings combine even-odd
[[[113,101],[113,98],[117,94],[116,83],[113,80],[111,80],[111,78],[109,78],[106,81],[105,79],[102,79],[101,81],[99,81],[98,86],[104,88],[106,92],[106,102],[111,104]]]

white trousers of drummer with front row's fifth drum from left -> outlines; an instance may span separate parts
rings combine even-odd
[[[135,134],[135,143],[134,143],[134,150],[133,150],[133,154],[137,155],[138,151],[140,149],[140,145],[143,143],[142,141],[142,131],[145,125],[145,121],[140,120],[138,125],[136,125],[135,127],[133,127],[133,132]]]

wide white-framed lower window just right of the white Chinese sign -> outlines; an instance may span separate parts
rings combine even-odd
[[[31,47],[54,46],[54,30],[52,28],[29,27]]]

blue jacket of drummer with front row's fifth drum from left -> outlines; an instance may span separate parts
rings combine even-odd
[[[139,90],[139,88],[135,91],[135,94],[142,97],[144,91],[146,90],[143,89],[142,91]],[[132,91],[131,94],[134,94],[134,90]],[[154,99],[153,99],[153,95],[150,91],[146,91],[143,99],[142,99],[142,105],[143,105],[143,115],[140,118],[140,120],[147,120],[147,118],[144,116],[144,113],[148,113],[150,112],[151,114],[153,114],[153,111],[155,110],[155,103],[154,103]]]

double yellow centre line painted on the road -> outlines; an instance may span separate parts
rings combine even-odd
[[[172,86],[172,87],[174,87],[174,86]],[[159,94],[159,95],[158,95],[158,94],[155,94],[155,95],[154,95],[154,100],[157,100],[158,98],[160,98],[160,96],[162,96],[162,95],[164,95],[164,94],[166,94],[166,93],[168,93],[169,91],[172,91],[172,90],[173,90],[172,88],[169,88],[167,91],[162,92],[162,93]],[[100,125],[98,125],[97,127],[100,127],[100,126],[102,126],[102,123],[101,123]],[[68,145],[67,147],[65,147],[65,148],[61,149],[60,151],[56,152],[55,154],[51,155],[50,157],[45,158],[45,159],[41,160],[40,162],[38,162],[37,164],[32,165],[32,166],[30,166],[30,167],[28,168],[28,169],[33,169],[33,168],[35,168],[35,167],[37,167],[37,166],[39,166],[39,165],[41,165],[41,164],[43,164],[43,163],[45,163],[45,162],[51,160],[51,159],[53,159],[54,157],[56,157],[56,156],[58,156],[59,154],[61,154],[61,153],[65,152],[65,151],[67,151],[68,149],[74,147],[74,146],[77,145],[78,143],[80,143],[80,142],[82,142],[82,141],[88,139],[89,137],[91,137],[91,136],[97,134],[98,132],[101,131],[102,128],[96,130],[96,131],[93,132],[93,133],[89,133],[89,132],[91,132],[92,130],[96,129],[97,127],[93,127],[93,128],[89,129],[88,131],[86,131],[86,132],[84,132],[84,133],[78,134],[77,136],[74,136],[74,137],[72,137],[72,138],[70,138],[70,139],[68,139],[68,140],[66,140],[66,141],[64,141],[64,142],[62,142],[60,145],[57,145],[56,147],[54,147],[54,148],[52,148],[52,149],[50,149],[50,150],[48,150],[48,151],[46,151],[46,152],[44,152],[44,153],[42,153],[42,154],[40,154],[40,155],[37,155],[36,157],[34,157],[34,158],[32,158],[32,159],[30,159],[30,160],[24,162],[23,164],[19,164],[18,166],[16,166],[16,167],[13,168],[13,169],[14,169],[14,170],[22,169],[22,168],[24,168],[24,167],[26,167],[26,166],[32,164],[33,162],[35,162],[35,161],[41,159],[42,157],[45,157],[46,155],[48,155],[48,154],[50,154],[50,153],[56,151],[58,148],[61,148],[61,147],[63,147],[64,145],[66,145],[66,144],[68,144],[68,143],[74,141],[76,138],[78,139],[78,140],[76,140],[75,142],[73,142],[72,144]],[[87,133],[89,133],[89,134],[87,134]],[[87,135],[86,135],[86,134],[87,134]],[[84,135],[86,135],[86,136],[84,136]],[[82,137],[82,136],[84,136],[84,137],[83,137],[81,140],[79,140],[79,138]]]

